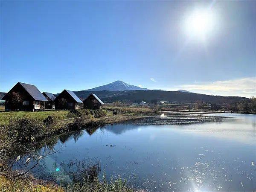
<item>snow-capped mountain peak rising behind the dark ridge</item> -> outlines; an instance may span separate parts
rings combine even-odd
[[[102,85],[102,86],[95,87],[95,88],[88,89],[88,90],[90,90],[90,91],[101,91],[101,90],[119,91],[119,90],[148,90],[148,89],[130,85],[123,81],[115,81],[113,83],[109,83],[109,84]]]

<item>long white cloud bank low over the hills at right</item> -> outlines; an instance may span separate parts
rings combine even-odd
[[[175,88],[177,87],[177,88]],[[251,97],[256,95],[256,78],[248,77],[241,79],[232,79],[227,81],[214,81],[207,83],[195,82],[194,84],[184,84],[172,88],[163,88],[165,90],[189,90],[195,93],[221,96],[244,96]]]

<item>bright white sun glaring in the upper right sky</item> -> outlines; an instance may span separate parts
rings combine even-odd
[[[185,31],[190,37],[204,40],[214,25],[215,15],[212,11],[196,10],[186,18]]]

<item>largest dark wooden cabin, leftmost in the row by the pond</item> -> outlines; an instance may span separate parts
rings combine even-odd
[[[21,102],[12,104],[12,93],[20,95]],[[18,82],[9,92],[3,96],[6,100],[5,111],[43,111],[48,100],[35,85]]]

